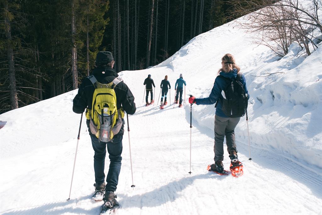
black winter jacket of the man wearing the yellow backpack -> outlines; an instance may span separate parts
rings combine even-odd
[[[104,72],[104,73],[102,73]],[[92,75],[95,76],[99,83],[111,83],[116,77],[118,77],[118,73],[115,72],[114,69],[106,67],[106,68],[95,68],[92,72]],[[73,112],[82,113],[85,108],[92,109],[92,100],[93,93],[95,87],[88,78],[84,78],[81,83],[78,93],[73,99]],[[128,114],[134,114],[136,111],[136,106],[134,103],[134,96],[128,86],[121,82],[114,88],[116,94],[116,105],[117,108],[123,108],[125,112]],[[88,120],[89,121],[89,120]],[[124,124],[124,121],[123,121]],[[121,131],[118,134],[123,134],[123,126]]]

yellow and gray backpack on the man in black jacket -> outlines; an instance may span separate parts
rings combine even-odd
[[[90,120],[90,131],[99,141],[109,142],[122,127],[123,109],[117,109],[114,88],[123,80],[115,78],[111,83],[102,84],[94,75],[88,76],[95,87],[91,110],[86,110],[86,119]]]

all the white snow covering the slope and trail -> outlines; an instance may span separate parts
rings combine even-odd
[[[192,39],[165,62],[120,77],[135,96],[129,116],[134,184],[128,135],[118,184],[118,214],[322,214],[322,49],[296,58],[297,46],[277,61],[264,46],[251,43],[243,30],[228,23]],[[189,94],[208,97],[221,57],[231,53],[247,79],[250,93],[249,161],[246,117],[236,128],[244,164],[240,178],[206,170],[213,163],[214,105],[193,105],[192,174],[190,105],[178,108],[174,84],[182,73]],[[276,73],[280,72],[280,73]],[[268,77],[262,73],[276,73]],[[145,107],[143,81],[168,75],[171,105]],[[93,149],[85,117],[77,154],[72,201],[67,202],[80,114],[72,112],[77,91],[0,115],[0,214],[98,214],[92,202]],[[108,158],[107,158],[108,162]],[[223,161],[229,167],[228,153]],[[106,165],[108,166],[108,165]],[[107,170],[106,170],[107,171]]]

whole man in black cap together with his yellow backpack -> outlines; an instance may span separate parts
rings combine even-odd
[[[118,176],[121,170],[124,111],[134,114],[134,96],[113,69],[112,53],[101,51],[95,60],[92,74],[81,83],[73,100],[73,111],[82,113],[86,108],[86,123],[94,149],[95,192],[93,200],[104,200],[102,207],[112,208]],[[105,156],[109,152],[109,171],[105,184]]]

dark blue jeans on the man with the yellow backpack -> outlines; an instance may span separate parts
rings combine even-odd
[[[110,142],[99,142],[99,139],[95,135],[90,134],[92,140],[92,146],[95,151],[94,154],[94,171],[95,171],[95,183],[102,184],[105,180],[104,166],[106,147],[109,152],[109,172],[106,177],[106,191],[116,191],[118,185],[118,176],[121,171],[122,161],[122,139],[123,135],[116,135]]]

